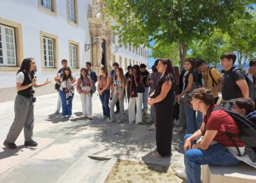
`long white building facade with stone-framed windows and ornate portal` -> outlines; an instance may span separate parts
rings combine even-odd
[[[62,59],[75,74],[85,62],[92,62],[97,72],[102,65],[110,67],[112,59],[122,67],[148,65],[147,49],[139,54],[139,48],[132,52],[122,46],[115,52],[118,40],[106,26],[101,7],[96,0],[0,0],[0,102],[14,99],[16,72],[26,57],[36,60],[38,82],[53,80]],[[53,84],[38,90],[50,92]]]

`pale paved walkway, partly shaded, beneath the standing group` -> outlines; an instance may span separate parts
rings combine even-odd
[[[57,94],[37,98],[36,148],[23,146],[23,132],[16,141],[16,150],[4,148],[2,143],[14,120],[14,101],[0,103],[0,182],[104,182],[117,159],[183,167],[181,147],[176,141],[178,134],[174,133],[171,158],[151,157],[155,131],[146,131],[148,125],[128,124],[128,120],[124,123],[103,121],[97,94],[92,99],[92,121],[81,116],[78,94],[73,101],[75,118],[70,120],[54,113]]]

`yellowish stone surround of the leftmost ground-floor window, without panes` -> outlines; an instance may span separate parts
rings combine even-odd
[[[0,24],[14,28],[15,42],[16,42],[16,66],[1,66],[0,72],[17,72],[21,67],[23,60],[23,40],[22,40],[22,26],[21,23],[9,21],[5,18],[0,18]]]

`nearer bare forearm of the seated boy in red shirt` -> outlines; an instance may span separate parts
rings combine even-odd
[[[203,136],[203,140],[200,143],[193,145],[193,149],[207,150],[217,133],[218,131],[206,131],[206,134]]]

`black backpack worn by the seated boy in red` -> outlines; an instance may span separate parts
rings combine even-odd
[[[230,111],[230,110],[227,110],[227,109],[221,109],[221,108],[218,108],[218,107],[214,107],[210,111],[210,113],[212,111],[216,111],[216,110],[225,111],[238,124],[239,135],[229,133],[228,131],[225,131],[225,134],[228,136],[230,141],[233,143],[235,148],[238,150],[239,155],[241,155],[240,150],[238,148],[238,145],[233,140],[233,138],[240,138],[240,140],[242,140],[242,142],[245,143],[245,145],[252,148],[256,153],[256,150],[255,150],[255,147],[256,147],[256,140],[255,140],[256,139],[256,123],[252,123],[252,121],[250,121],[248,118],[245,118],[240,113],[236,113],[234,111]]]

